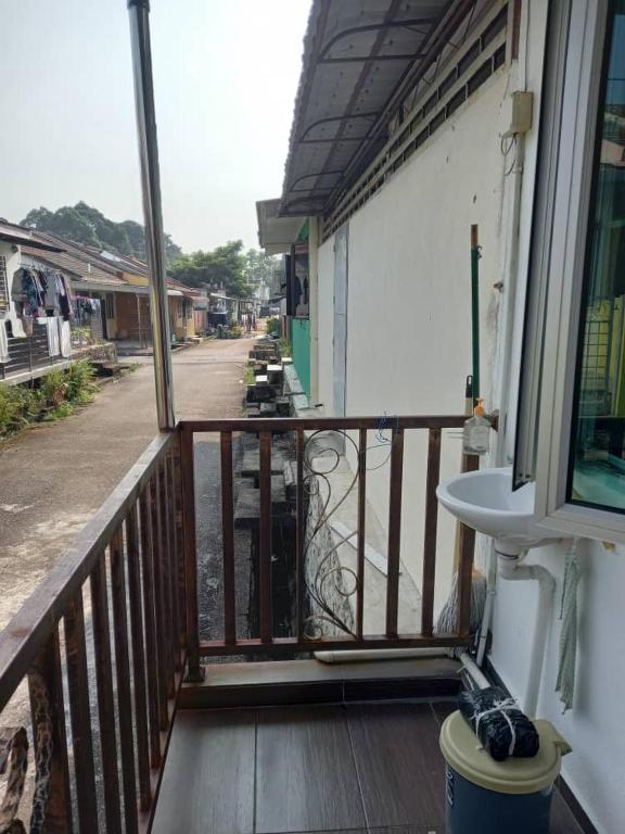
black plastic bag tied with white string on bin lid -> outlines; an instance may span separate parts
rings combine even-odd
[[[531,759],[538,753],[540,738],[536,728],[498,686],[462,692],[458,706],[495,761],[505,761],[510,756]]]

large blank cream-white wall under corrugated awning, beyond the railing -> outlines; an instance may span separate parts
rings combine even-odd
[[[479,224],[483,393],[487,406],[501,279],[503,157],[499,134],[508,72],[477,91],[349,219],[347,414],[461,414],[471,372],[470,229]],[[331,414],[333,240],[319,252],[319,399]],[[371,437],[370,443],[373,443]],[[421,584],[425,433],[406,439],[403,560]],[[444,438],[443,470],[458,471],[460,443]],[[372,451],[370,467],[387,450]],[[383,526],[388,466],[368,473]],[[442,514],[443,516],[443,514]],[[452,573],[454,523],[439,525],[436,601]]]

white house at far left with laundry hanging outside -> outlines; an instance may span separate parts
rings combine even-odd
[[[40,306],[29,305],[22,278],[24,267],[30,274],[26,252],[52,257],[61,249],[31,229],[0,220],[0,380],[11,383],[65,367],[72,354],[69,324],[61,311],[54,273],[44,298],[39,298]]]

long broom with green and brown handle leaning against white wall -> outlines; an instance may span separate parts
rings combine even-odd
[[[477,242],[477,226],[471,226],[471,331],[472,331],[472,359],[473,375],[467,377],[464,390],[464,414],[469,417],[473,414],[473,407],[480,396],[480,244]],[[467,457],[462,455],[461,471],[467,471]],[[460,607],[459,577],[460,567],[460,522],[456,522],[456,543],[454,546],[454,579],[447,602],[443,606],[434,633],[437,635],[456,634],[458,629],[458,611]],[[486,606],[487,585],[486,578],[475,568],[471,574],[471,617],[469,631],[475,634],[482,623],[484,608]],[[464,649],[460,648],[459,652]],[[451,654],[457,654],[452,650]]]

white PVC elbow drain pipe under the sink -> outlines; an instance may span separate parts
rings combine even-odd
[[[543,679],[543,662],[545,659],[547,635],[549,633],[549,621],[551,619],[556,580],[541,565],[520,565],[518,558],[502,555],[499,556],[499,576],[501,579],[509,581],[533,579],[538,582],[538,611],[536,615],[536,626],[534,628],[534,640],[532,641],[527,687],[522,705],[523,711],[530,718],[535,718],[538,709],[538,695]]]

